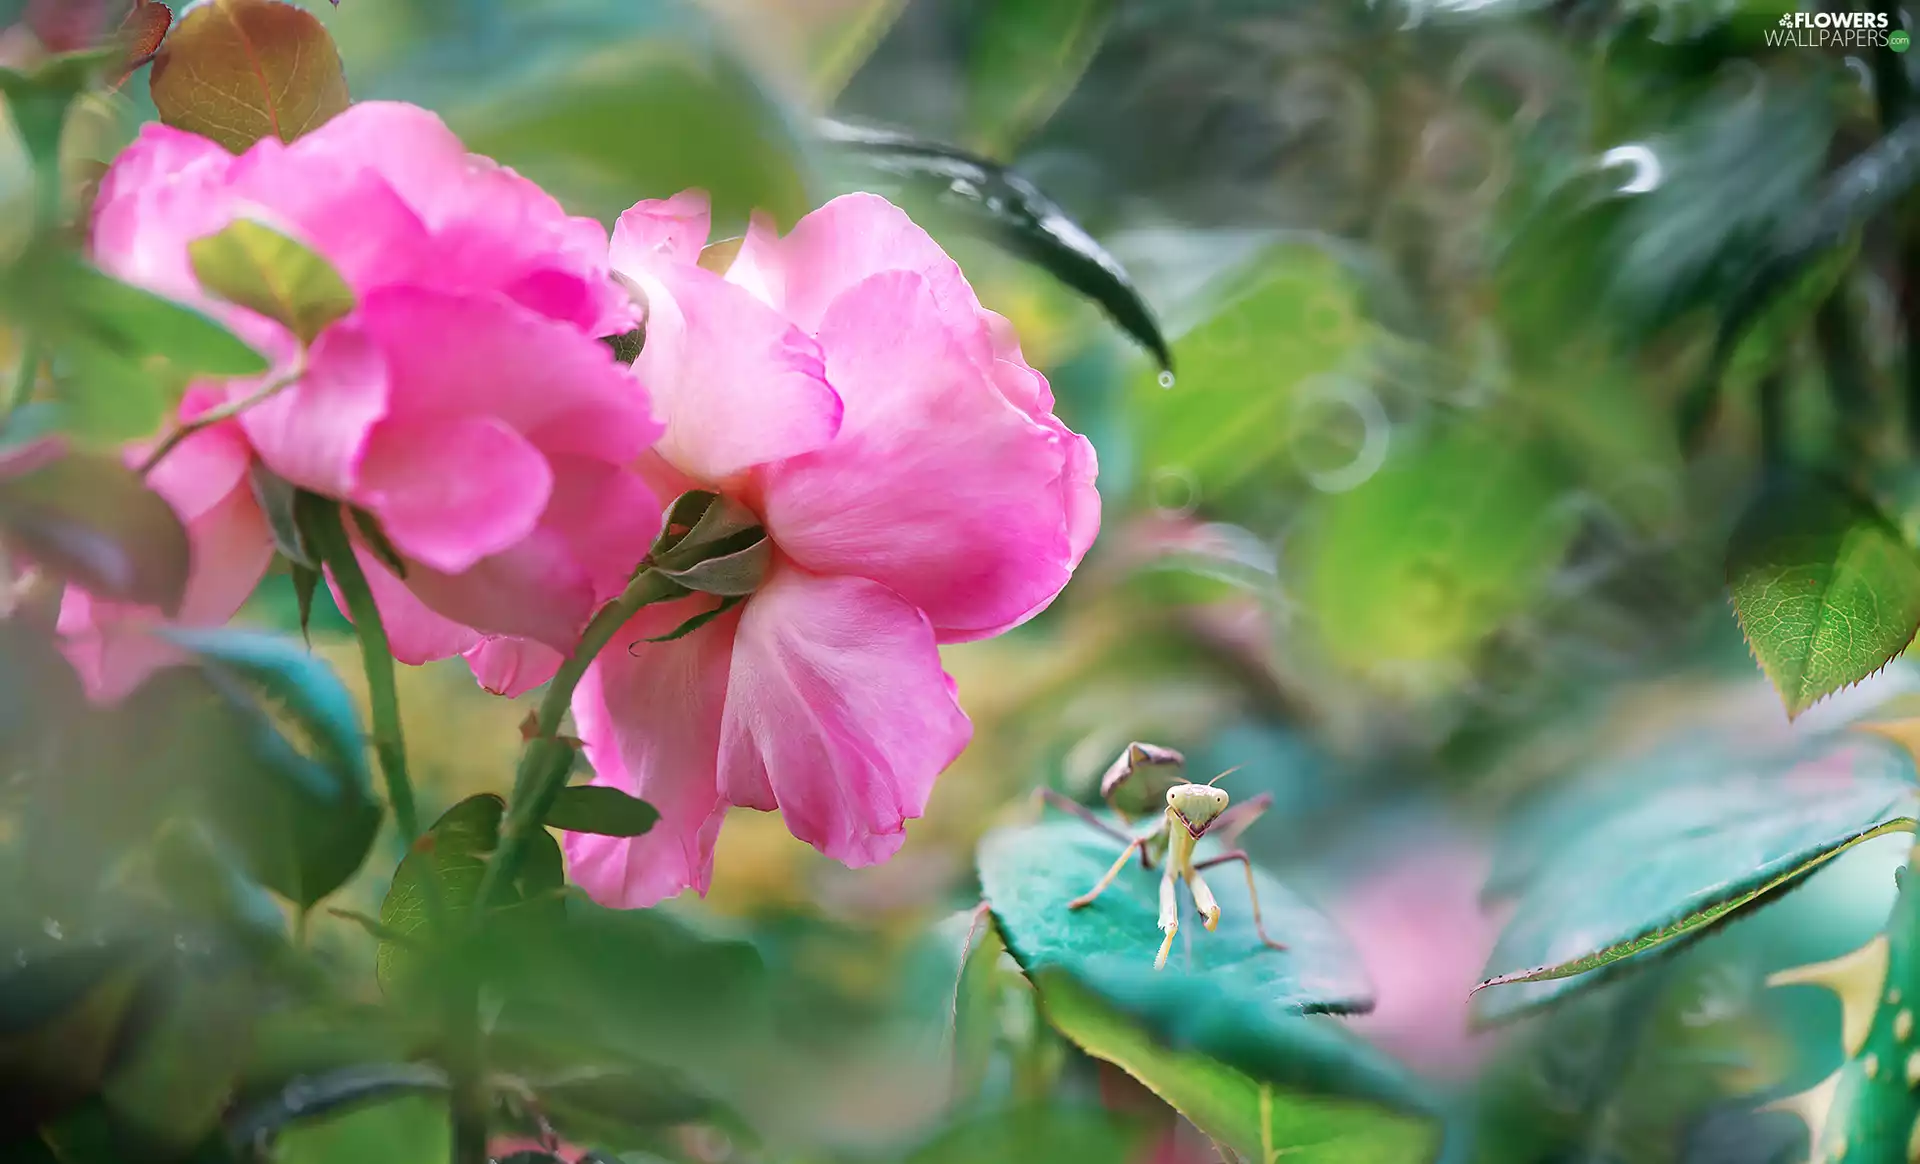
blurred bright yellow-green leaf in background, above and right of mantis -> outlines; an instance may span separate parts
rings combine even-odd
[[[1455,428],[1323,501],[1302,599],[1356,670],[1459,657],[1523,611],[1576,522],[1519,432]]]

